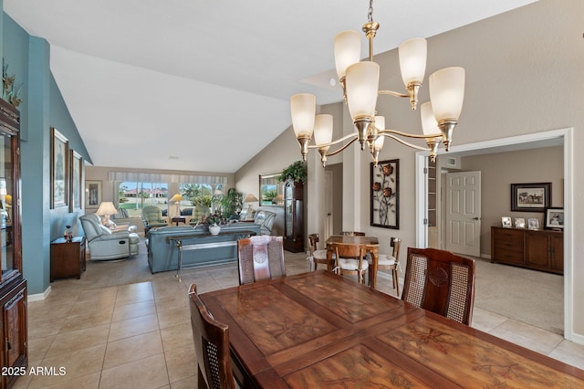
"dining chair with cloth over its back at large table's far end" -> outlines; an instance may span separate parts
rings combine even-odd
[[[286,276],[283,237],[256,236],[237,241],[239,285]]]

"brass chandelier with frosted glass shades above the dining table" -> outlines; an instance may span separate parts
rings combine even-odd
[[[320,160],[326,166],[327,157],[345,150],[355,141],[360,142],[361,150],[369,147],[373,163],[377,165],[384,139],[430,151],[435,161],[438,145],[442,142],[449,150],[453,130],[464,100],[464,68],[443,68],[434,72],[430,78],[430,100],[421,106],[422,134],[407,133],[385,128],[385,118],[376,116],[379,95],[409,98],[412,110],[418,105],[418,91],[426,71],[427,44],[423,38],[412,38],[398,48],[401,79],[407,93],[380,90],[380,66],[373,61],[373,38],[379,28],[373,21],[373,0],[370,0],[368,22],[363,32],[369,41],[369,58],[360,61],[360,34],[357,31],[343,31],[335,37],[334,53],[339,83],[343,97],[355,126],[355,131],[336,141],[332,141],[332,116],[316,115],[316,97],[300,93],[290,99],[292,126],[300,143],[302,159],[307,160],[308,149],[318,149]],[[315,144],[309,144],[314,134]],[[427,147],[406,142],[403,138],[424,139]],[[330,147],[340,144],[339,148],[329,151]]]

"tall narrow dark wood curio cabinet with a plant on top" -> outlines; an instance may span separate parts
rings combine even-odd
[[[292,253],[304,251],[303,198],[304,185],[287,181],[284,185],[284,249]]]

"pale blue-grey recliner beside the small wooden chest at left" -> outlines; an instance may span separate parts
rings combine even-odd
[[[110,230],[101,224],[97,214],[80,216],[81,226],[88,241],[91,260],[128,258],[138,254],[140,237],[129,229]]]

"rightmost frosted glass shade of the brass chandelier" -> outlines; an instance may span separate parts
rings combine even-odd
[[[430,100],[436,121],[458,121],[463,109],[464,68],[443,68],[430,75]]]

